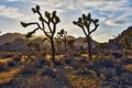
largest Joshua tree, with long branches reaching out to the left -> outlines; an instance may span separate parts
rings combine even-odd
[[[29,32],[26,37],[31,37],[32,34],[34,34],[37,30],[42,30],[42,32],[46,35],[46,37],[51,42],[52,46],[52,61],[55,64],[55,45],[54,45],[54,35],[56,32],[56,25],[61,22],[59,18],[56,15],[56,11],[53,11],[52,13],[45,11],[45,18],[42,15],[40,11],[40,6],[36,6],[35,8],[32,8],[33,13],[38,14],[40,22],[30,22],[24,23],[21,22],[22,26],[26,28],[29,25],[36,25],[36,29],[34,29],[32,32]],[[45,28],[47,26],[47,28]],[[47,31],[48,30],[48,31]]]

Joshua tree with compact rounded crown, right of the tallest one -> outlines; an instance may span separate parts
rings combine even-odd
[[[85,33],[87,37],[88,55],[89,55],[90,61],[91,61],[91,36],[90,35],[99,26],[98,22],[99,22],[98,19],[91,19],[90,13],[88,13],[88,15],[82,14],[81,18],[78,18],[78,21],[73,22],[75,25],[78,25],[79,28],[82,29],[82,32]],[[94,29],[92,29],[92,24],[95,26]]]

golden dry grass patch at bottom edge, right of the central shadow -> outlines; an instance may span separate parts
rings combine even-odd
[[[98,88],[102,84],[102,80],[99,80],[98,77],[94,75],[79,76],[76,75],[76,72],[77,70],[72,70],[67,73],[67,79],[74,88]]]

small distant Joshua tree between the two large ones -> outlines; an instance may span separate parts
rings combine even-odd
[[[58,36],[58,38],[61,38],[61,40],[63,40],[63,42],[64,42],[64,51],[66,52],[67,50],[66,50],[66,36],[67,36],[67,32],[66,31],[64,31],[64,29],[62,29],[61,30],[61,32],[57,32],[57,36]]]

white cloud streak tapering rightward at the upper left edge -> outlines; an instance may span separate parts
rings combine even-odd
[[[0,6],[0,16],[12,19],[12,20],[29,20],[30,18],[25,14],[19,12],[19,9],[7,7],[4,4]]]

